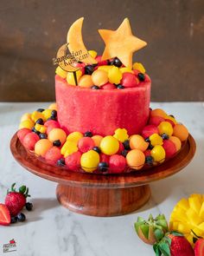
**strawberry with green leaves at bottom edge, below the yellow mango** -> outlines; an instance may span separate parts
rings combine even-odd
[[[153,246],[156,256],[194,256],[194,250],[182,233],[166,233],[163,240]]]

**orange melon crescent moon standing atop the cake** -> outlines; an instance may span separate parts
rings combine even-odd
[[[96,64],[97,61],[90,56],[82,39],[81,30],[83,21],[84,17],[80,17],[80,19],[76,20],[68,30],[67,46],[71,55],[73,55],[78,62]]]

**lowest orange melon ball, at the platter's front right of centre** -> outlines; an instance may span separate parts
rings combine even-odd
[[[126,161],[129,167],[140,170],[145,162],[145,155],[139,149],[133,149],[126,155]]]

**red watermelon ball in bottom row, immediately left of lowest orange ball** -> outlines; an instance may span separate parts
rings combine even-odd
[[[126,160],[123,155],[112,154],[109,160],[109,170],[111,174],[119,174],[124,172],[126,167]]]

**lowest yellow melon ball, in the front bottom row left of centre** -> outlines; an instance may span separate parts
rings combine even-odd
[[[80,166],[86,172],[92,173],[94,170],[97,169],[99,165],[99,160],[100,160],[99,153],[97,153],[94,150],[90,150],[81,155]]]

